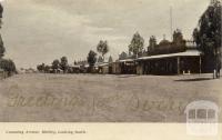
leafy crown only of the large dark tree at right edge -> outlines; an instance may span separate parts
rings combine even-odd
[[[193,31],[193,39],[206,54],[215,54],[221,47],[221,2],[211,3]]]

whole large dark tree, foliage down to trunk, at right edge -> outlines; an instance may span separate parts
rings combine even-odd
[[[220,68],[221,63],[221,2],[213,0],[199,20],[199,27],[193,30],[193,39],[204,53],[206,70]]]

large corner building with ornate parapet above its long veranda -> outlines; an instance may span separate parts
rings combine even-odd
[[[174,31],[173,41],[163,38],[159,44],[150,39],[148,56],[135,59],[138,74],[201,73],[202,53],[193,41],[183,39],[180,30]]]

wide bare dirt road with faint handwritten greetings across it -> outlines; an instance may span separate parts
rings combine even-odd
[[[192,101],[222,107],[222,79],[211,78],[18,74],[0,81],[0,121],[185,122]]]

